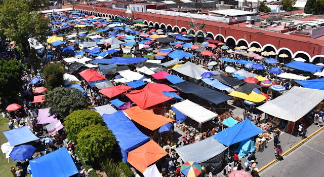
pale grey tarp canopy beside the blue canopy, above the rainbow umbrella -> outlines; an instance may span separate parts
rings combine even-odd
[[[208,148],[207,148],[208,147]],[[208,137],[194,144],[176,148],[177,153],[184,162],[205,162],[227,149],[213,137]]]

